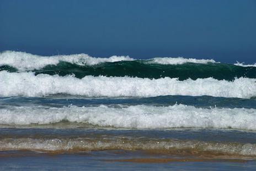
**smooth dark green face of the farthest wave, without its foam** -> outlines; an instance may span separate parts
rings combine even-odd
[[[0,67],[1,70],[15,72],[17,69],[9,66]],[[234,80],[234,78],[256,78],[256,67],[241,67],[233,64],[222,63],[185,63],[178,65],[149,64],[141,60],[105,62],[97,65],[77,65],[68,62],[60,62],[57,65],[47,65],[40,70],[33,70],[37,74],[70,75],[83,78],[86,75],[93,76],[130,76],[138,78],[179,78],[185,80],[191,78],[212,77],[217,80]]]

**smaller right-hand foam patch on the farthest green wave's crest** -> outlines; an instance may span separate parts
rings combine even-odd
[[[193,58],[153,58],[148,60],[148,63],[157,63],[157,64],[171,64],[171,65],[178,65],[184,63],[197,63],[197,64],[207,64],[207,63],[216,63],[213,59],[193,59]]]

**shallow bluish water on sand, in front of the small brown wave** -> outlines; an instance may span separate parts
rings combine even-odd
[[[196,161],[189,160],[193,157],[184,159],[184,157],[172,155],[148,155],[140,151],[94,151],[55,155],[5,151],[0,152],[0,158],[0,170],[255,170],[256,167],[255,160]],[[121,161],[121,159],[143,158],[145,162]],[[148,162],[149,158],[151,158],[150,162]],[[169,160],[162,162],[164,159]]]

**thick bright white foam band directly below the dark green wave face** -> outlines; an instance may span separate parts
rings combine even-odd
[[[87,97],[154,97],[165,95],[250,98],[256,96],[256,79],[143,79],[130,77],[58,76],[0,71],[0,96],[42,97],[56,93]]]

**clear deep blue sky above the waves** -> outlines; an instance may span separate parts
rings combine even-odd
[[[0,51],[256,62],[256,1],[0,0]]]

